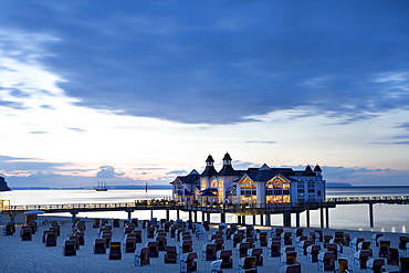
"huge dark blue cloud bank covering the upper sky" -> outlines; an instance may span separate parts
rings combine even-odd
[[[86,107],[209,124],[306,107],[352,123],[409,105],[408,6],[368,3],[6,1],[1,42]]]

